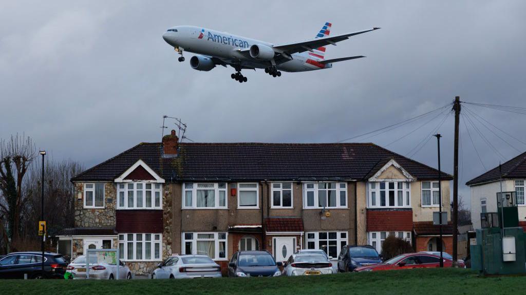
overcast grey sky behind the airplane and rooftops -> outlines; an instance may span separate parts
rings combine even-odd
[[[139,142],[160,141],[163,114],[196,142],[336,142],[463,101],[526,107],[524,1],[3,1],[0,138],[25,133],[55,159],[86,167]],[[272,78],[190,68],[161,38],[196,25],[273,43],[382,27],[329,46],[326,58],[365,55],[332,69]],[[526,142],[523,114],[468,106]],[[438,113],[437,113],[438,114]],[[445,114],[444,114],[445,116]],[[363,141],[386,146],[431,120]],[[406,155],[442,115],[387,146]],[[467,118],[466,118],[467,119]],[[477,121],[473,121],[478,124]],[[169,127],[173,123],[167,121]],[[504,161],[468,126],[482,162]],[[505,158],[526,150],[478,125]],[[484,172],[461,121],[461,184]],[[439,130],[452,173],[453,117]],[[360,139],[359,139],[360,140]],[[356,141],[356,140],[355,140]],[[436,140],[413,159],[437,167]],[[462,185],[461,194],[469,190]]]

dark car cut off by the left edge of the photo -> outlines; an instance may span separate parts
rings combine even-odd
[[[45,252],[42,272],[42,252],[13,252],[0,259],[0,279],[64,278],[66,267],[62,255]]]

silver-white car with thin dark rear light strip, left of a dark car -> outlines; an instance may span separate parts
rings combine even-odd
[[[174,255],[161,262],[152,279],[220,278],[221,267],[206,255]]]

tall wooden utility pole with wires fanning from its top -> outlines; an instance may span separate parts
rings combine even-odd
[[[457,267],[458,261],[458,216],[459,216],[459,124],[460,124],[460,97],[455,97],[453,103],[455,111],[455,135],[453,148],[453,267]]]

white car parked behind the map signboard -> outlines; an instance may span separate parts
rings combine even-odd
[[[74,279],[86,279],[86,256],[81,255],[67,266],[67,271],[73,273]],[[89,257],[89,279],[113,280],[117,277],[117,265],[97,261],[96,256]],[[130,269],[119,260],[119,279],[131,279]]]

